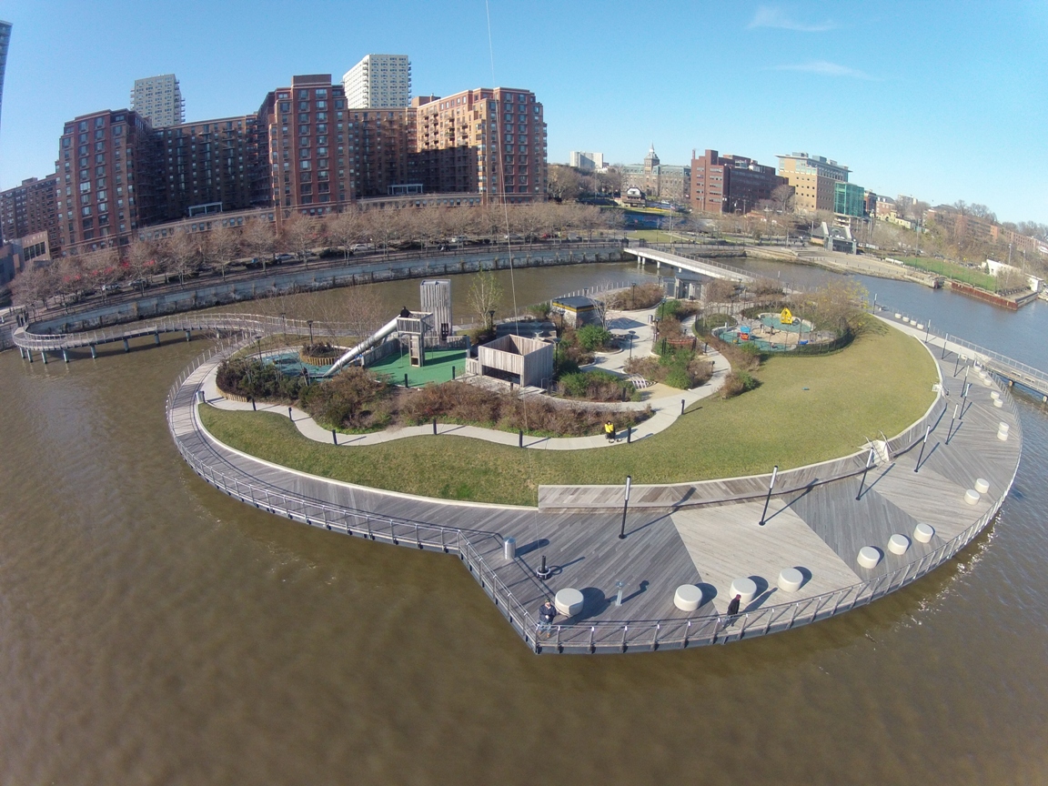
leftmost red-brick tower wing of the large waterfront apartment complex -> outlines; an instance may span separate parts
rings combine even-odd
[[[159,158],[156,134],[137,112],[107,109],[66,123],[56,162],[63,249],[126,245],[139,226],[163,220]]]

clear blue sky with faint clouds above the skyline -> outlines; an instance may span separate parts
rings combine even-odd
[[[488,53],[487,12],[494,39]],[[1048,222],[1048,3],[0,2],[15,24],[0,188],[53,171],[65,121],[177,74],[188,118],[252,112],[293,73],[411,57],[413,92],[536,92],[549,160],[806,151],[878,193]]]

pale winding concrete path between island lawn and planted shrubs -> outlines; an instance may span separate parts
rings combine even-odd
[[[628,335],[629,331],[634,332],[632,351],[619,350],[615,353],[599,354],[593,364],[586,366],[586,369],[603,369],[615,373],[625,374],[624,366],[631,356],[645,356],[651,352],[654,328],[649,324],[648,318],[655,309],[641,311],[615,311],[608,314],[608,327],[616,335]],[[690,322],[685,325],[690,327]],[[728,362],[718,352],[708,350],[708,356],[714,363],[714,375],[704,385],[693,390],[675,391],[671,395],[660,396],[641,401],[627,401],[614,405],[617,409],[645,409],[649,405],[652,408],[652,416],[634,428],[630,435],[631,441],[645,439],[669,429],[674,421],[680,417],[683,410],[697,401],[712,396],[724,385],[724,378],[730,371]],[[208,374],[203,381],[204,399],[208,403],[221,410],[245,411],[250,410],[249,402],[232,401],[224,398],[218,390],[215,381],[217,369]],[[465,377],[467,378],[467,377]],[[663,388],[664,390],[664,388]],[[373,445],[391,442],[395,439],[406,439],[408,437],[432,436],[433,425],[407,425],[400,428],[387,429],[372,434],[340,434],[332,433],[316,423],[308,413],[297,407],[275,403],[257,403],[259,412],[276,412],[280,415],[290,417],[303,436],[316,442],[332,442],[337,445]],[[478,425],[460,425],[458,423],[437,423],[437,434],[447,434],[459,437],[472,437],[473,439],[484,439],[488,442],[497,442],[512,447],[518,446],[520,437],[512,432],[498,431],[496,429],[484,429]],[[616,444],[626,444],[625,432],[618,433],[617,441],[609,441],[603,434],[591,437],[534,437],[524,435],[524,446],[541,451],[581,451],[591,447],[613,447]]]

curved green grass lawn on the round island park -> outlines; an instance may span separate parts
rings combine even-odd
[[[533,505],[542,484],[750,475],[852,453],[881,431],[898,434],[934,400],[935,362],[917,339],[875,329],[836,354],[773,357],[758,373],[760,388],[699,401],[664,432],[610,449],[522,451],[453,436],[335,447],[306,439],[271,413],[201,406],[200,416],[225,444],[313,475],[427,497]]]

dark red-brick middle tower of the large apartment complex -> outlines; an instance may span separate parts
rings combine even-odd
[[[258,111],[258,154],[268,162],[269,199],[282,208],[323,214],[356,198],[347,136],[346,93],[330,73],[291,78]]]

